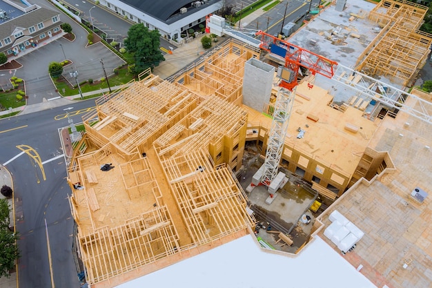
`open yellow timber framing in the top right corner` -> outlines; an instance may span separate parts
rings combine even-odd
[[[432,35],[418,30],[427,9],[409,1],[381,1],[369,19],[382,30],[357,59],[356,69],[408,85],[424,65],[432,44]]]

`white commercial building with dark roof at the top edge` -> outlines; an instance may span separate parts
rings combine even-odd
[[[203,23],[206,16],[222,8],[222,0],[107,0],[99,5],[150,30],[159,30],[167,39],[181,41],[187,30]]]

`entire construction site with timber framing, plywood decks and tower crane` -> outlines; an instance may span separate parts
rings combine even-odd
[[[68,164],[90,287],[244,238],[287,263],[323,240],[374,287],[432,285],[432,96],[405,90],[427,8],[353,2],[97,100]]]

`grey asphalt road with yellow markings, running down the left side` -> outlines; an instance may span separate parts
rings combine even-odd
[[[62,156],[58,128],[67,126],[64,108],[69,112],[94,106],[95,99],[22,116],[0,119],[0,162],[12,173],[17,218],[19,286],[51,287],[50,265],[44,220],[48,224],[52,276],[56,287],[79,287],[72,257],[73,219],[67,196],[66,165]],[[58,115],[61,115],[58,117]],[[60,120],[55,120],[55,117]],[[73,116],[81,122],[81,115]],[[28,145],[40,156],[46,180],[39,166],[17,148]],[[19,155],[18,157],[16,157]],[[16,157],[16,158],[14,158]],[[22,218],[20,217],[22,215]]]

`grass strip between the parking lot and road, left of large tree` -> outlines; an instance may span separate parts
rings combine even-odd
[[[121,84],[126,84],[128,83],[128,81],[132,79],[133,79],[133,75],[128,73],[127,68],[124,68],[124,69],[119,69],[119,75],[114,75],[108,78],[108,82],[110,83],[110,87],[113,87]],[[56,79],[54,83],[55,86],[57,87],[57,90],[59,90],[60,95],[62,96],[72,96],[72,95],[79,94],[78,87],[71,88],[68,82],[65,81],[64,79],[62,80]],[[93,82],[93,84],[89,84],[88,81],[86,81],[83,84],[79,84],[79,86],[81,87],[82,93],[108,88],[108,84],[106,83],[106,81],[97,81],[97,82]],[[64,93],[63,93],[63,89],[64,89]],[[92,95],[92,97],[96,97],[99,95],[102,95],[102,93],[99,93],[97,95]]]

